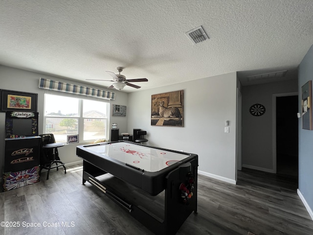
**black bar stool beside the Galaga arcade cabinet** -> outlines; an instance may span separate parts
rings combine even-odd
[[[65,163],[61,162],[59,157],[58,148],[63,147],[64,143],[56,143],[53,134],[40,135],[42,138],[42,155],[40,158],[40,171],[41,175],[42,169],[47,169],[47,180],[49,179],[50,169],[57,168],[59,170],[60,166],[64,167],[64,173],[67,173]],[[58,165],[59,163],[59,165]],[[56,164],[52,166],[52,164]]]

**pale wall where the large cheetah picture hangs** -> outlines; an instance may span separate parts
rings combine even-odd
[[[199,155],[199,173],[235,184],[236,72],[129,94],[128,132],[147,131],[148,145]],[[151,126],[151,95],[184,91],[184,126]],[[224,133],[225,120],[230,133]]]

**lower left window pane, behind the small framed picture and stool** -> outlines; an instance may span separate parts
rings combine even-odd
[[[67,135],[78,134],[78,118],[46,118],[45,133],[52,133],[56,142],[67,142]]]

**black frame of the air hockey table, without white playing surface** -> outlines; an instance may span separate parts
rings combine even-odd
[[[121,141],[114,141],[114,142],[121,142]],[[114,143],[111,142],[111,143]],[[128,141],[122,141],[122,142],[128,142]],[[109,144],[110,142],[104,143]],[[130,142],[132,144],[137,144]],[[95,144],[96,145],[96,144]],[[140,145],[140,144],[138,144]],[[138,187],[134,184],[134,181],[132,181],[132,177],[127,177],[123,173],[118,172],[124,172],[127,169],[132,169],[132,167],[125,167],[125,164],[112,160],[109,158],[109,161],[106,161],[108,159],[103,159],[103,156],[97,156],[97,154],[90,153],[88,151],[88,147],[90,145],[85,146],[78,146],[76,148],[76,155],[80,158],[82,158],[83,161],[83,185],[88,181],[91,185],[95,186],[99,190],[101,190],[103,193],[105,193],[106,196],[108,196],[112,201],[117,203],[119,206],[121,206],[123,209],[128,211],[135,219],[137,219],[139,222],[141,222],[143,225],[145,225],[148,229],[153,231],[157,235],[174,235],[177,233],[181,225],[184,223],[184,221],[188,218],[188,216],[194,211],[197,213],[197,182],[198,182],[198,155],[196,154],[188,154],[190,155],[185,160],[180,161],[176,165],[171,165],[163,170],[162,172],[140,172],[138,169],[134,169],[136,172],[139,172],[142,176],[141,178],[138,178],[137,175],[132,174],[130,172],[131,176],[134,176],[134,180],[140,180],[142,181],[142,178],[145,177],[145,175],[148,175],[148,182],[152,184],[156,184],[156,191],[148,188],[148,190],[145,190],[146,187],[143,184],[143,187]],[[145,145],[147,146],[147,145]],[[147,146],[151,148],[157,148],[153,146]],[[162,148],[157,148],[162,149]],[[171,152],[177,152],[174,150],[169,149],[162,149],[166,151]],[[181,152],[177,152],[181,153]],[[91,157],[93,156],[93,157]],[[102,159],[101,159],[102,158]],[[104,164],[101,164],[104,163]],[[115,166],[112,166],[112,163]],[[121,170],[121,167],[122,170]],[[110,169],[112,168],[112,170]],[[188,200],[187,204],[181,203],[181,191],[179,190],[179,186],[181,183],[185,183],[187,178],[186,175],[191,172],[194,176],[194,189],[193,189],[193,196]],[[137,188],[140,188],[145,193],[148,193],[150,195],[157,195],[159,192],[165,190],[164,195],[164,220],[160,220],[159,218],[156,218],[153,213],[149,213],[147,211],[144,211],[140,208],[140,205],[134,205],[129,202],[129,199],[127,199],[126,195],[119,195],[116,194],[116,192],[110,188],[108,188],[103,182],[96,179],[97,176],[111,173],[115,177],[123,180],[126,183],[129,183]],[[116,173],[116,174],[114,174]],[[150,173],[150,175],[149,175]],[[153,175],[153,176],[151,176]],[[161,177],[161,178],[160,178]],[[158,183],[156,183],[159,181]],[[162,190],[160,190],[160,186],[162,186]],[[113,192],[114,191],[114,192]],[[158,192],[156,194],[156,192]]]

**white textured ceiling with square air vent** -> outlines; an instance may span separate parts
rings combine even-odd
[[[185,33],[200,25],[209,40],[194,45]],[[116,67],[148,78],[139,90],[233,71],[244,85],[296,78],[312,44],[313,0],[0,0],[1,65],[105,88],[85,79]]]

